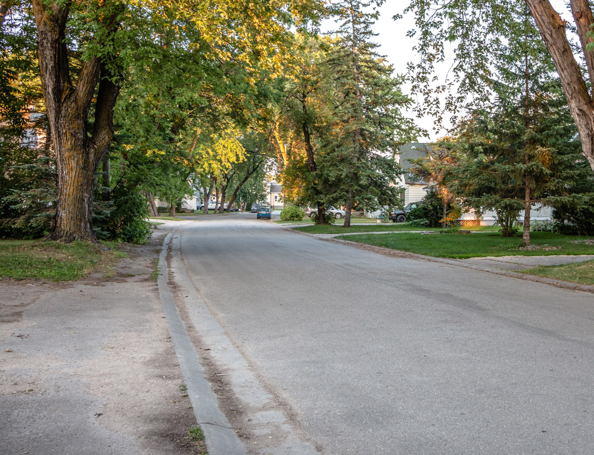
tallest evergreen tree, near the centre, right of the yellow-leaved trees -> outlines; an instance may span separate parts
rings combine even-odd
[[[355,202],[369,208],[394,206],[400,190],[391,186],[402,172],[393,159],[397,146],[416,135],[400,109],[402,77],[377,53],[372,26],[383,0],[340,0],[331,11],[339,24],[327,61],[333,113],[325,125],[318,178],[328,202],[346,205],[345,227]]]

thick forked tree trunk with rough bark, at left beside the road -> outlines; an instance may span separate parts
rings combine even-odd
[[[46,5],[33,0],[39,68],[58,171],[56,217],[47,240],[96,242],[91,216],[94,175],[113,138],[113,107],[119,87],[97,57],[83,62],[77,82],[70,78],[66,24],[71,2]],[[115,19],[110,26],[116,26]],[[108,22],[106,22],[108,23]],[[93,134],[88,120],[95,100]]]

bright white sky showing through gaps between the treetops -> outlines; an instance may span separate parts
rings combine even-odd
[[[373,27],[374,33],[378,34],[378,36],[375,37],[375,43],[380,44],[379,53],[386,56],[387,61],[393,65],[396,74],[406,74],[407,62],[418,62],[418,57],[412,50],[412,47],[415,45],[415,40],[406,36],[406,32],[414,28],[412,15],[407,14],[403,19],[398,21],[392,19],[394,14],[402,14],[407,3],[406,0],[387,0],[384,2],[380,8],[380,18]],[[571,21],[571,14],[565,7],[565,0],[551,0],[551,4],[555,10],[561,14],[563,19]],[[334,21],[326,21],[322,28],[325,30],[333,30],[335,27],[336,24],[334,24]],[[445,74],[450,66],[451,62],[445,62],[441,65],[441,68],[438,68],[438,71]],[[403,87],[403,92],[410,96],[415,102],[417,101],[415,94],[410,93],[410,83],[407,83]],[[415,118],[416,114],[410,111],[409,116]],[[445,117],[447,116],[444,116],[444,119]],[[428,137],[419,138],[421,142],[434,141],[445,134],[444,130],[437,132],[433,131],[434,122],[432,122],[432,119],[429,117],[416,117],[416,123],[418,126],[421,126],[421,128],[424,128],[429,132]]]

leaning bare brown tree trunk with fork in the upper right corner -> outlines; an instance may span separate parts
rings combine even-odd
[[[565,35],[566,23],[561,20],[559,13],[552,8],[548,0],[526,0],[526,3],[555,63],[571,116],[580,134],[582,150],[594,171],[594,104]],[[587,36],[590,26],[594,23],[592,9],[588,0],[571,0],[571,11],[582,42],[590,82],[594,84],[594,50],[588,50],[586,47],[592,41],[592,38]]]

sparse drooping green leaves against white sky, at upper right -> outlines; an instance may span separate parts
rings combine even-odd
[[[404,11],[415,16],[408,34],[418,39],[418,58],[408,69],[412,93],[423,100],[417,112],[434,116],[438,125],[450,113],[455,124],[457,113],[476,106],[470,103],[489,102],[507,44],[522,41],[524,24],[517,17],[526,8],[523,0],[410,0]],[[544,46],[534,43],[535,49]],[[444,64],[447,72],[441,71]]]

